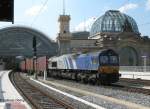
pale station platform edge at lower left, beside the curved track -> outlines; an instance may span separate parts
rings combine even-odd
[[[11,71],[0,71],[0,109],[31,109],[9,80]]]

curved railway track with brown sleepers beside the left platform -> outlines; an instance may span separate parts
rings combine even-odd
[[[12,72],[10,80],[19,93],[31,105],[32,109],[73,109],[72,106],[53,98],[44,91],[30,84],[19,73]]]

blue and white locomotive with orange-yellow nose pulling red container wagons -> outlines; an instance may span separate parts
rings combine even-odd
[[[73,79],[84,83],[111,84],[117,82],[120,76],[119,56],[111,49],[84,54],[65,54],[43,59],[45,62],[39,59],[40,61],[37,63],[43,63],[41,66],[44,68],[37,65],[36,69],[37,71],[46,69],[48,76],[51,77]],[[24,64],[21,66],[25,70]],[[32,66],[30,65],[29,69],[26,65],[26,70],[32,70]]]

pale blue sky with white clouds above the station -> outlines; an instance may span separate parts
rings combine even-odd
[[[0,28],[19,25],[37,29],[55,40],[63,0],[14,0],[15,22],[0,22]],[[143,36],[150,36],[150,0],[65,0],[65,13],[71,16],[70,30],[90,30],[96,18],[107,10],[120,10],[133,17]]]

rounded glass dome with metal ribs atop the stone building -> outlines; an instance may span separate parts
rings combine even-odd
[[[90,36],[99,32],[134,32],[139,34],[135,20],[117,10],[109,10],[92,25]]]

